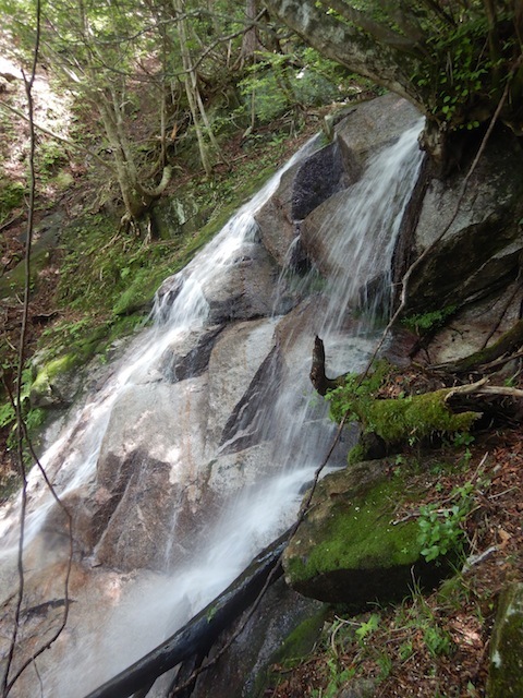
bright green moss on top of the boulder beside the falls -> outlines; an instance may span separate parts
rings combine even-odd
[[[288,561],[292,580],[336,569],[375,569],[413,565],[419,558],[416,521],[390,524],[403,481],[382,481],[367,492],[331,506],[321,540],[303,558]]]

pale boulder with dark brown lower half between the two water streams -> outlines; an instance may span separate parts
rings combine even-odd
[[[178,385],[130,387],[112,409],[94,492],[77,513],[76,535],[98,564],[165,569],[184,553],[169,541],[199,529],[207,381]]]

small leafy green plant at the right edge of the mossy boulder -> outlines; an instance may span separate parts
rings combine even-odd
[[[474,506],[473,490],[472,483],[467,482],[452,491],[451,506],[435,503],[419,507],[418,542],[427,562],[451,551],[463,551],[466,539],[463,524]]]

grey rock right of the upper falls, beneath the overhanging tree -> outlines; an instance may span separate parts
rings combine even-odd
[[[464,171],[427,182],[413,258],[429,252],[409,279],[406,314],[495,297],[518,276],[523,251],[521,155],[511,136],[494,133],[464,193]]]

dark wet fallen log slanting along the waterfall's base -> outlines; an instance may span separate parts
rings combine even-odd
[[[86,698],[129,698],[142,689],[147,693],[170,669],[196,653],[206,654],[220,633],[256,601],[266,582],[272,583],[283,574],[280,559],[288,537],[289,531],[266,547],[240,577],[180,630]]]

